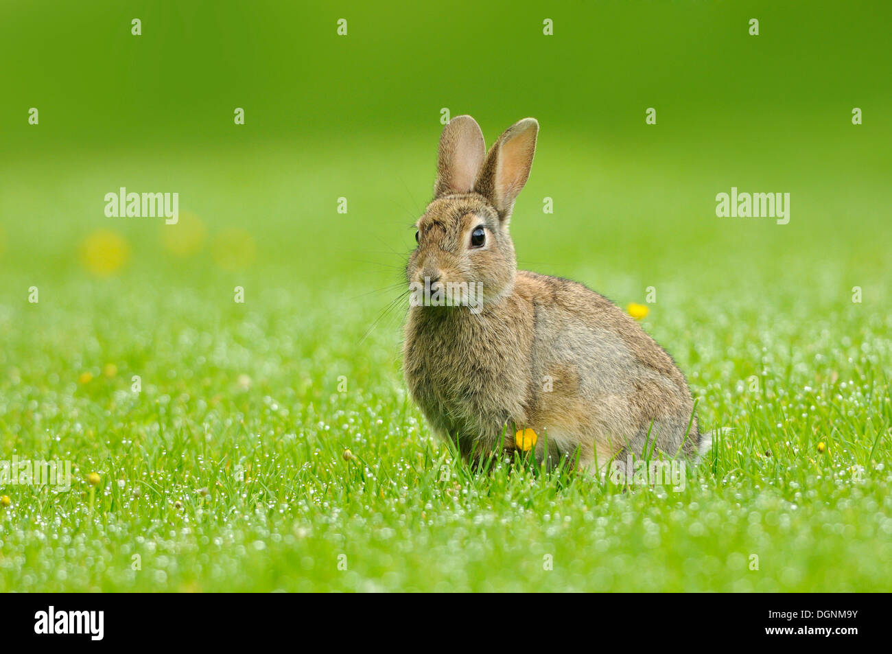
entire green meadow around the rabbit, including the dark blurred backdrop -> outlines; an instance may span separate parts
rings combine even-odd
[[[0,460],[72,484],[0,485],[0,591],[892,590],[888,20],[754,6],[762,40],[676,4],[566,7],[554,41],[524,4],[348,4],[343,42],[319,7],[136,3],[132,38],[136,8],[10,9]],[[533,81],[434,74],[484,35]],[[647,307],[731,428],[683,490],[475,474],[431,435],[400,294],[441,107],[488,143],[541,121],[519,265]],[[120,186],[178,223],[106,216]],[[716,215],[731,187],[789,222]]]

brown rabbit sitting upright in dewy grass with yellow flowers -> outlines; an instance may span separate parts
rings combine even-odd
[[[592,472],[645,448],[705,450],[681,370],[635,320],[582,284],[517,270],[508,224],[538,132],[536,120],[520,120],[487,154],[470,116],[443,128],[434,200],[406,275],[432,297],[465,285],[482,293],[476,304],[413,302],[410,392],[466,459],[513,450],[516,428],[539,436],[539,461],[547,447],[549,462],[567,456]]]

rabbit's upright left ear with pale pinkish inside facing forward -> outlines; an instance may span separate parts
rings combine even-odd
[[[434,196],[470,193],[485,156],[486,142],[477,121],[470,116],[450,120],[440,137]]]

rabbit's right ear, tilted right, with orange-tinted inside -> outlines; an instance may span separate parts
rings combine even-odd
[[[475,191],[492,203],[503,221],[511,217],[514,200],[530,177],[538,134],[536,119],[518,120],[492,146],[477,175]]]

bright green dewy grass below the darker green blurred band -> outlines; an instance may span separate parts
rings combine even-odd
[[[834,171],[807,173],[807,129],[769,131],[785,161],[746,153],[746,133],[689,138],[632,153],[545,126],[513,222],[524,267],[621,306],[657,287],[643,326],[701,423],[733,427],[681,492],[529,466],[475,476],[434,440],[401,380],[403,308],[385,308],[435,125],[318,158],[268,145],[4,164],[0,447],[70,459],[75,482],[0,489],[0,591],[890,590],[888,163],[830,186]],[[738,163],[723,176],[723,161]],[[202,247],[177,257],[160,220],[104,218],[120,178],[180,188]],[[790,224],[715,218],[731,184],[792,191]],[[217,239],[236,227],[256,255],[231,269]],[[78,259],[101,228],[130,248],[110,277]]]

